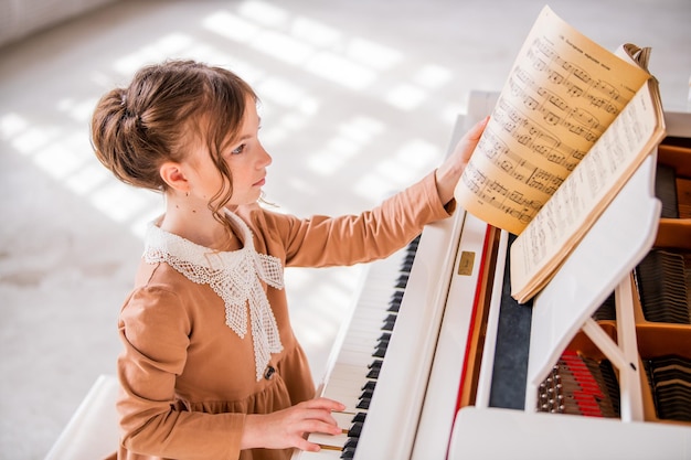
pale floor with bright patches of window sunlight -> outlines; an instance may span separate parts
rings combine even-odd
[[[91,111],[143,63],[230,66],[263,99],[284,211],[353,213],[445,154],[471,89],[498,90],[543,1],[120,1],[0,49],[0,459],[42,459],[97,376],[161,199],[94,158]],[[691,110],[689,0],[554,0],[603,46],[652,46],[668,110]],[[315,378],[363,267],[289,269]]]

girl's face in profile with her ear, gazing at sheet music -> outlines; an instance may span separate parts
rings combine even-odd
[[[254,99],[248,99],[238,136],[233,143],[221,151],[233,178],[233,194],[226,206],[238,206],[256,202],[262,194],[266,178],[266,167],[272,157],[264,150],[258,139],[261,119]],[[190,194],[209,202],[224,186],[224,178],[209,157],[206,148],[192,153],[194,171]],[[227,184],[225,184],[227,186]]]

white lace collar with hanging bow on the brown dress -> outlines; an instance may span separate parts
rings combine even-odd
[[[225,302],[225,323],[241,339],[247,333],[247,306],[254,340],[257,382],[262,379],[272,353],[283,350],[274,312],[259,280],[283,289],[280,259],[258,254],[247,224],[226,211],[242,234],[243,248],[216,252],[196,245],[150,223],[143,258],[149,264],[166,263],[190,281],[209,285]]]

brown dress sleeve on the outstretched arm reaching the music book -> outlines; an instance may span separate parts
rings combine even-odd
[[[384,258],[405,246],[432,222],[448,217],[455,202],[439,200],[434,173],[359,215],[308,220],[268,213],[278,228],[286,265],[329,267]]]

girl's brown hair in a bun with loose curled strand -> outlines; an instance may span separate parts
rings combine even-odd
[[[92,145],[98,160],[120,181],[164,192],[159,174],[166,161],[180,161],[185,147],[201,139],[219,172],[222,190],[209,207],[222,218],[233,192],[231,171],[221,157],[234,141],[253,89],[234,73],[193,61],[168,61],[141,68],[126,88],[104,95],[92,118]]]

